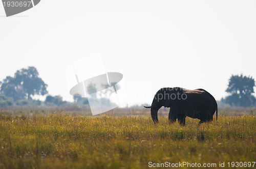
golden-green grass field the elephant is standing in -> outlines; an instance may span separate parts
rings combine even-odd
[[[228,167],[256,161],[256,116],[250,111],[220,112],[218,124],[215,116],[200,126],[190,118],[186,126],[169,124],[164,116],[154,125],[149,112],[92,117],[16,111],[0,111],[0,168],[148,168],[149,162]]]

